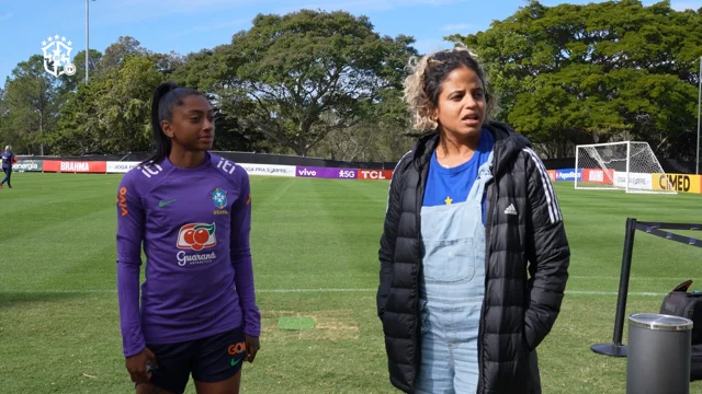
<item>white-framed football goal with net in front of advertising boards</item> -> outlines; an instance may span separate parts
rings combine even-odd
[[[576,147],[578,189],[677,194],[648,142],[610,142]]]

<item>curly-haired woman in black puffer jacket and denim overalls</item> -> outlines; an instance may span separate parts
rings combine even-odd
[[[491,121],[463,47],[410,63],[405,100],[427,131],[397,163],[380,247],[377,313],[406,393],[541,393],[536,347],[563,301],[570,252],[530,142]]]

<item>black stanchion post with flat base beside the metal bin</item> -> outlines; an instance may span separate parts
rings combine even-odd
[[[616,298],[616,313],[614,314],[614,331],[611,344],[596,344],[590,348],[599,355],[626,357],[626,346],[622,345],[624,333],[624,314],[626,313],[626,296],[629,293],[629,277],[632,269],[632,254],[634,251],[634,234],[636,233],[636,219],[626,219],[626,232],[624,234],[624,253],[622,254],[622,271],[619,280],[619,294]]]

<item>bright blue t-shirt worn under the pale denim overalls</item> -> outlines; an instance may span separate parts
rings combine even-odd
[[[435,207],[465,202],[475,179],[478,177],[478,169],[487,162],[494,144],[495,138],[490,131],[483,129],[478,147],[471,160],[451,169],[439,164],[437,151],[434,150],[429,164],[429,175],[422,205],[424,207]],[[485,217],[485,204],[483,204],[483,216]]]

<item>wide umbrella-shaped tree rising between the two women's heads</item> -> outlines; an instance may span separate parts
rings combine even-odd
[[[369,120],[383,92],[399,89],[412,42],[381,37],[367,18],[346,12],[259,14],[179,76],[207,85],[246,128],[307,155],[332,130]],[[212,77],[195,77],[195,68]]]

